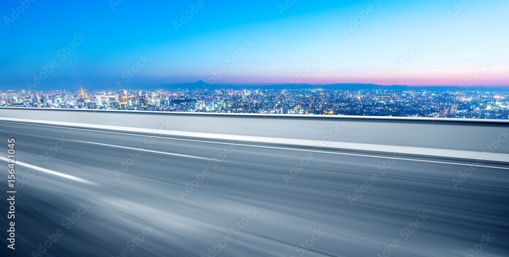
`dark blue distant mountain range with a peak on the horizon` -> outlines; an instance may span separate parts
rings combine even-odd
[[[165,90],[179,90],[179,89],[208,89],[208,90],[217,90],[217,89],[334,89],[334,90],[370,90],[370,89],[384,89],[384,90],[428,90],[428,91],[460,91],[460,90],[495,90],[495,91],[506,91],[509,90],[509,87],[485,87],[485,86],[471,86],[471,87],[460,87],[460,86],[407,86],[407,85],[390,85],[390,86],[381,86],[375,84],[351,84],[351,83],[343,83],[343,84],[328,84],[328,85],[311,85],[311,84],[280,84],[280,85],[219,85],[219,84],[208,84],[203,80],[200,80],[195,83],[181,83],[181,84],[173,84],[173,85],[164,85],[161,84],[156,87],[156,89],[165,89]]]

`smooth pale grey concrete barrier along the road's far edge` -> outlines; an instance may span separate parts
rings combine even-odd
[[[169,136],[509,162],[507,120],[47,108],[0,108],[0,120],[139,133],[166,122]]]

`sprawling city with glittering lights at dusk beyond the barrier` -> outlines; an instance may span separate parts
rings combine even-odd
[[[0,90],[0,107],[509,119],[509,91]]]

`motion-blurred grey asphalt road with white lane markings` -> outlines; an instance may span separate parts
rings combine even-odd
[[[4,166],[16,139],[18,190],[2,256],[509,256],[509,165],[7,122],[0,135]]]

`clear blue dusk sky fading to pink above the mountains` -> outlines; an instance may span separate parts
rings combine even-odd
[[[220,84],[509,84],[505,0],[22,2],[0,4],[3,90],[36,77],[39,89],[92,89],[213,74]]]

